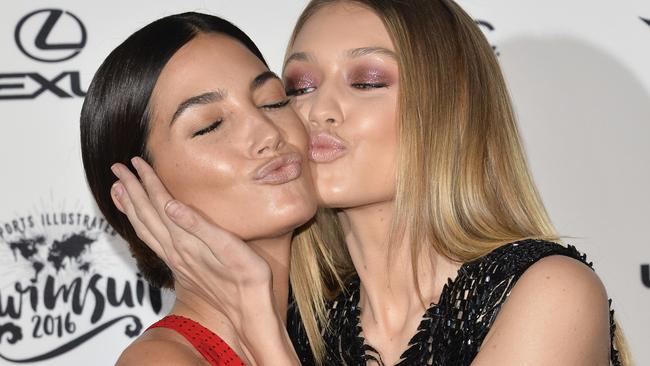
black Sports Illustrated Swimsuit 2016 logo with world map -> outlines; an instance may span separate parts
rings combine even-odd
[[[0,364],[50,360],[116,327],[133,338],[143,313],[160,313],[161,291],[124,266],[116,239],[76,210],[0,221]]]

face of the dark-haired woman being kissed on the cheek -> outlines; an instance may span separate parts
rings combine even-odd
[[[238,41],[188,42],[151,106],[148,151],[176,199],[244,240],[290,233],[313,216],[305,128],[282,82]]]

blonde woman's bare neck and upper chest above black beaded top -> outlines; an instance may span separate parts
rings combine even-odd
[[[384,334],[400,332],[407,319],[419,318],[425,306],[437,302],[447,278],[455,277],[458,270],[458,264],[425,247],[415,258],[416,287],[408,235],[396,235],[397,242],[388,242],[392,214],[391,200],[344,209],[338,215],[361,280],[362,317]]]

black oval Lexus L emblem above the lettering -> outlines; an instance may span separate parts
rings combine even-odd
[[[27,57],[42,62],[61,62],[81,52],[86,45],[86,28],[69,11],[40,9],[20,19],[14,38]]]

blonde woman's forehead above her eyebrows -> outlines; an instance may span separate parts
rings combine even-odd
[[[339,2],[317,10],[297,34],[291,50],[322,54],[368,46],[394,49],[384,23],[374,11]]]

